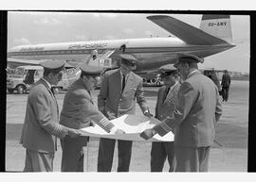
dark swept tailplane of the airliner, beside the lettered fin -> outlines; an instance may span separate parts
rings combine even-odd
[[[194,45],[215,45],[221,43],[228,43],[219,38],[213,37],[210,34],[198,29],[192,25],[188,25],[173,17],[166,15],[148,16],[147,19],[161,26],[165,30],[174,34],[177,38],[185,41],[188,44]]]

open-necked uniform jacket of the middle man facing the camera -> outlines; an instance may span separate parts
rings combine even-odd
[[[142,112],[147,109],[142,78],[131,72],[126,79],[123,91],[119,69],[106,72],[101,82],[98,108],[111,120],[123,114],[135,114],[136,101]]]

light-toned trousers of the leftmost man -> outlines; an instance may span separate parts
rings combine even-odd
[[[24,172],[53,172],[54,153],[26,150]]]

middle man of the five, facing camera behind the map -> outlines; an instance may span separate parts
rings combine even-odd
[[[132,71],[137,68],[137,59],[131,55],[121,54],[120,68],[108,71],[101,82],[98,96],[98,108],[112,120],[123,114],[136,113],[136,101],[142,112],[150,116],[146,106],[142,78]],[[116,140],[100,140],[98,156],[98,172],[111,172]],[[118,172],[129,172],[133,141],[119,143]]]

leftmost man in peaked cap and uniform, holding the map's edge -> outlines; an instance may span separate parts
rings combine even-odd
[[[20,143],[26,148],[24,172],[52,172],[57,138],[76,138],[81,133],[59,124],[59,108],[51,85],[62,79],[65,61],[42,62],[44,76],[27,96],[26,116]]]

